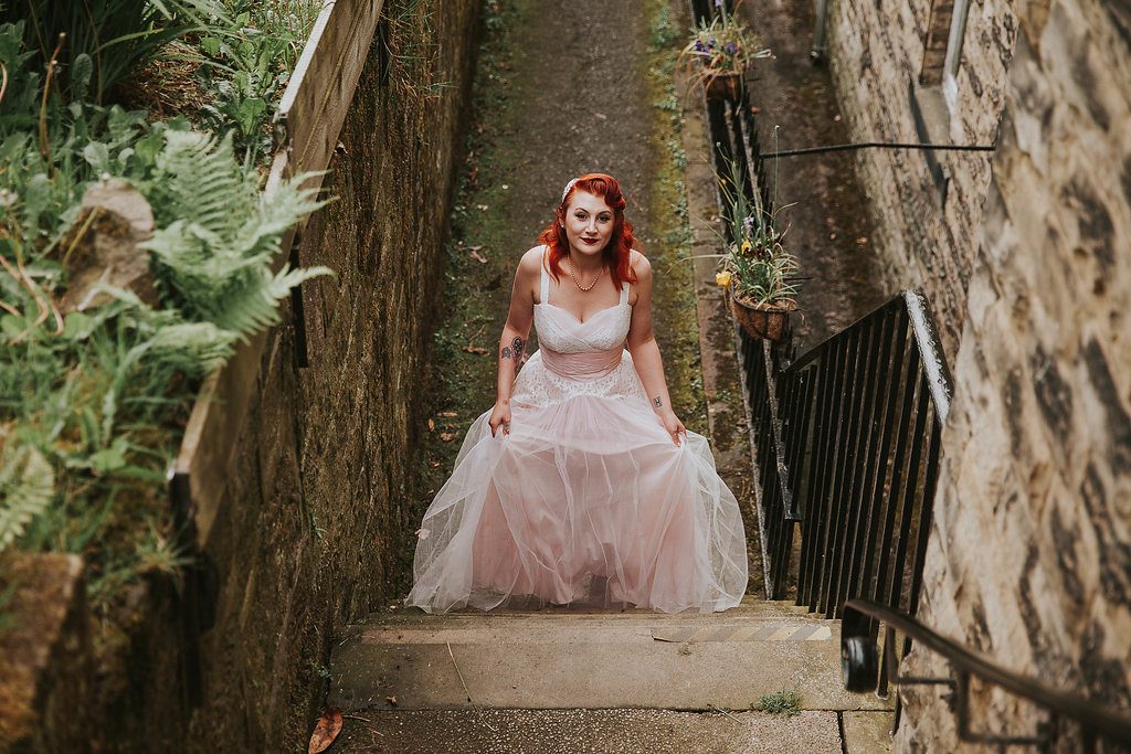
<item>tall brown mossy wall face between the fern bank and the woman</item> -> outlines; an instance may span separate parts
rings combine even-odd
[[[379,34],[415,33],[413,5],[387,0],[394,20]],[[338,199],[301,243],[302,265],[337,272],[303,285],[309,366],[296,366],[293,318],[264,355],[209,543],[219,588],[192,718],[201,751],[217,733],[225,751],[294,751],[320,713],[330,641],[398,596],[415,541],[406,509],[425,419],[413,385],[442,280],[480,2],[423,7],[432,36],[390,47],[439,45],[434,80],[449,86],[428,96],[430,81],[404,80],[395,59],[382,76],[374,40],[323,189]]]

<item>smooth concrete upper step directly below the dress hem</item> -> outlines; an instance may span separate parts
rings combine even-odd
[[[375,615],[335,650],[329,702],[343,710],[748,710],[783,688],[796,690],[810,710],[888,707],[843,690],[839,622],[759,600],[713,615]]]

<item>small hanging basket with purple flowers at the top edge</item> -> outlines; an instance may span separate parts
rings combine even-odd
[[[726,10],[723,0],[715,0],[718,10],[708,21],[692,27],[691,41],[680,52],[684,64],[698,61],[699,68],[691,77],[691,87],[705,86],[708,97],[737,101],[742,94],[743,76],[750,62],[767,58],[768,49],[759,50],[758,38],[734,10]]]

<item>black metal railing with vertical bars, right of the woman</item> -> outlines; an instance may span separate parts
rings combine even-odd
[[[716,174],[735,164],[735,188],[772,223],[745,88],[705,106]],[[914,613],[950,401],[926,301],[906,292],[796,359],[737,332],[767,597],[830,618],[854,597]]]

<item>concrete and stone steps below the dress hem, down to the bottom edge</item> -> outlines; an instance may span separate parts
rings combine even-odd
[[[714,615],[382,613],[334,653],[334,751],[887,751],[890,704],[843,690],[839,639],[839,622],[750,597]],[[751,710],[783,690],[800,714]]]

